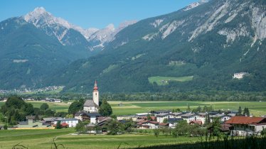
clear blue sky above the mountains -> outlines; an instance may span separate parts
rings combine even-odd
[[[0,21],[23,16],[43,6],[53,16],[82,28],[105,28],[110,23],[142,20],[177,11],[197,0],[1,0]]]

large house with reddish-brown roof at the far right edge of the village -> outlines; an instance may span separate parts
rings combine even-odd
[[[225,121],[233,126],[231,135],[246,136],[250,134],[258,134],[266,128],[265,117],[247,117],[247,116],[234,116],[228,121]]]

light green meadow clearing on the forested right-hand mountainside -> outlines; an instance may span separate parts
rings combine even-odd
[[[176,82],[186,82],[191,81],[193,79],[193,76],[187,76],[187,77],[149,77],[149,82],[152,84],[153,82],[156,82],[158,85],[166,85],[169,81],[176,81]]]

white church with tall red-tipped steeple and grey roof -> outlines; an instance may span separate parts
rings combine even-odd
[[[99,106],[99,91],[97,87],[97,82],[95,80],[93,92],[92,92],[92,100],[86,100],[85,104],[83,105],[83,111],[89,113],[96,113],[100,109]]]

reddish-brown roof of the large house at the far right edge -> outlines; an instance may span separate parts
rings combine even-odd
[[[256,124],[256,123],[260,123],[263,120],[266,121],[266,118],[234,116],[234,117],[230,118],[228,121],[225,121],[225,123],[230,123],[230,124]]]

